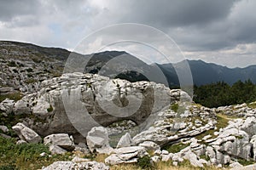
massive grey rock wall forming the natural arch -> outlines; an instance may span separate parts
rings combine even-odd
[[[43,137],[69,133],[78,143],[92,127],[122,120],[141,124],[171,102],[170,89],[162,84],[92,74],[67,73],[40,87],[15,103],[15,114],[27,114],[24,121]]]

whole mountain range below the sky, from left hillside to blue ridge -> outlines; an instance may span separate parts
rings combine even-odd
[[[195,85],[219,81],[232,84],[238,80],[245,81],[247,79],[251,79],[252,82],[256,83],[256,65],[231,69],[226,66],[206,63],[202,60],[184,60],[176,64],[148,65],[125,51],[75,54],[62,48],[45,48],[31,43],[0,41],[0,59],[2,59],[2,68],[3,66],[6,68],[3,73],[5,72],[7,75],[10,75],[9,77],[17,74],[15,77],[18,77],[17,79],[20,81],[20,71],[22,72],[24,69],[30,68],[33,68],[34,72],[37,71],[37,75],[28,73],[27,79],[25,78],[26,80],[21,81],[22,83],[32,82],[32,78],[43,81],[46,78],[60,75],[70,54],[79,56],[79,59],[86,61],[87,65],[84,67],[84,72],[99,73],[112,78],[119,77],[131,82],[148,80],[165,83],[167,81],[166,85],[177,87],[179,86],[177,71],[183,71],[184,62],[187,61]],[[76,62],[78,63],[79,61]],[[12,63],[15,65],[25,65],[23,66],[24,69],[20,70],[22,67],[17,67],[15,72],[13,71],[15,67],[9,67]],[[76,71],[75,66],[70,71]],[[3,80],[8,79],[6,74],[1,76]],[[166,80],[163,78],[163,75],[166,77]],[[24,79],[24,77],[21,78]],[[4,82],[4,84],[9,83]],[[15,84],[15,82],[11,84]],[[15,88],[18,87],[20,85],[15,85]]]

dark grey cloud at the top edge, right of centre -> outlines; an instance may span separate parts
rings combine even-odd
[[[120,20],[158,24],[160,26],[189,26],[222,20],[230,14],[233,0],[141,0],[131,1]],[[120,9],[121,10],[121,9]]]

